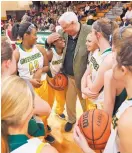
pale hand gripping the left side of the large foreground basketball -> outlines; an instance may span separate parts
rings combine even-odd
[[[73,130],[73,138],[78,146],[83,150],[84,153],[95,153],[88,145],[85,137],[81,133],[78,125],[76,124]]]

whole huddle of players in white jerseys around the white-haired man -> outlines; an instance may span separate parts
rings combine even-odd
[[[73,12],[62,14],[58,22],[61,28],[44,47],[36,44],[37,28],[29,22],[13,26],[12,37],[21,40],[15,50],[2,39],[2,152],[57,153],[47,120],[56,101],[61,119],[66,119],[66,105],[64,130],[74,126],[74,141],[84,153],[131,153],[132,27],[119,28],[106,18],[88,26]],[[79,120],[77,96],[86,112]],[[91,131],[96,118],[100,133],[104,126],[109,133],[102,132],[102,139],[107,137],[103,147],[94,141],[98,132]]]

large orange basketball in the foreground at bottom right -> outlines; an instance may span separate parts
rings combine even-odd
[[[111,132],[112,118],[103,110],[95,109],[83,113],[78,126],[85,136],[90,148],[105,148]]]

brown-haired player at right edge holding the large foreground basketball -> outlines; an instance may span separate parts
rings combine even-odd
[[[130,117],[132,115],[132,36],[126,36],[122,41],[124,30],[120,29],[118,32],[118,40],[120,39],[122,44],[119,42],[121,46],[118,54],[116,54],[112,71],[113,78],[124,83],[128,99],[122,103],[113,117],[111,135],[103,153],[132,152],[132,118]],[[119,49],[119,46],[117,48]],[[89,148],[78,126],[74,129],[74,139],[84,153],[94,153]]]

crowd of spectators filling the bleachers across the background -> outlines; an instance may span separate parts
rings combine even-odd
[[[49,30],[55,32],[55,27],[58,26],[59,17],[66,11],[73,11],[78,16],[78,20],[81,21],[82,18],[87,17],[86,24],[92,25],[95,21],[94,16],[97,14],[97,10],[106,10],[109,7],[113,7],[117,2],[109,1],[95,1],[95,2],[55,2],[51,1],[48,4],[41,2],[40,7],[36,5],[30,5],[30,10],[26,11],[24,16],[21,18],[20,22],[29,21],[36,25],[38,31]],[[84,4],[84,6],[78,8],[78,4]],[[132,7],[127,7],[123,5],[122,14],[119,17],[118,24],[120,26],[132,25]],[[15,17],[12,17],[8,21],[1,21],[2,32],[10,29],[11,26],[18,22]]]

